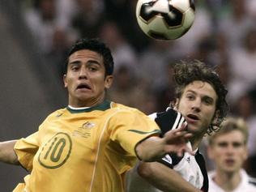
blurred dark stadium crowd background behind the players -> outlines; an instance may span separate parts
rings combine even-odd
[[[256,1],[196,0],[194,25],[176,41],[145,36],[135,18],[136,2],[0,2],[0,141],[26,137],[49,113],[66,107],[66,53],[80,37],[100,37],[115,62],[109,99],[147,114],[164,110],[173,98],[173,63],[196,58],[216,67],[229,90],[229,115],[245,118],[250,127],[245,169],[255,177]],[[13,190],[26,174],[1,163],[0,170],[0,191]]]

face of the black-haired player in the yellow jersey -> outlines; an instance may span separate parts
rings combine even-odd
[[[70,55],[63,79],[69,92],[69,105],[89,107],[105,99],[105,88],[111,86],[113,76],[105,77],[105,65],[99,53],[82,49]]]

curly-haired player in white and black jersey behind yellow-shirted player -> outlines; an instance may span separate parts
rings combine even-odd
[[[144,190],[147,188],[145,191],[159,191],[156,188],[164,191],[208,191],[207,170],[198,147],[204,135],[218,130],[224,120],[228,111],[225,100],[227,90],[215,70],[199,61],[175,65],[174,80],[176,99],[166,111],[153,113],[151,117],[160,126],[163,135],[186,120],[187,131],[193,134],[187,144],[195,155],[185,153],[179,157],[168,154],[157,162],[139,163],[139,175],[152,186],[146,183],[143,186],[143,181],[132,172],[127,185],[129,191],[142,191],[139,186],[134,185],[138,180]]]

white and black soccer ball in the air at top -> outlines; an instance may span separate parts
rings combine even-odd
[[[194,0],[138,0],[139,27],[155,40],[174,40],[194,23]]]

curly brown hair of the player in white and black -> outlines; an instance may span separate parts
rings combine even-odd
[[[228,113],[228,103],[226,101],[228,90],[224,86],[224,83],[221,82],[220,76],[215,72],[215,69],[198,60],[189,62],[181,61],[174,66],[173,79],[175,82],[176,99],[180,99],[186,86],[194,81],[198,80],[211,84],[218,99],[216,100],[215,109],[216,121],[211,123],[207,133],[211,134],[212,131],[219,130],[221,122],[224,121]],[[175,100],[171,105],[173,105],[174,102]]]

